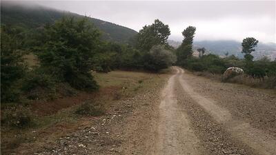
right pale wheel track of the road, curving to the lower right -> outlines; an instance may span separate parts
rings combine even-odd
[[[273,136],[264,134],[261,130],[251,127],[248,123],[244,123],[244,121],[234,120],[230,112],[223,107],[216,105],[213,99],[207,99],[197,92],[194,92],[193,88],[184,81],[184,70],[181,68],[177,68],[177,70],[178,72],[181,72],[179,82],[184,91],[188,93],[196,103],[203,107],[206,112],[213,116],[215,121],[224,125],[233,138],[242,141],[254,149],[257,154],[276,154],[276,140]]]

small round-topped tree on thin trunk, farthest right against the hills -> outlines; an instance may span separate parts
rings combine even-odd
[[[248,61],[252,61],[253,60],[253,56],[251,55],[251,52],[255,51],[255,47],[257,46],[257,43],[259,41],[257,41],[255,38],[253,37],[247,37],[246,39],[244,39],[242,41],[242,53],[244,53],[244,58]]]

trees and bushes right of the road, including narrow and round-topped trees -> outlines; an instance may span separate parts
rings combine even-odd
[[[244,59],[238,59],[237,56],[228,56],[221,58],[215,54],[206,54],[205,48],[197,49],[199,56],[193,56],[193,37],[195,35],[195,27],[189,26],[182,32],[184,40],[179,48],[176,49],[177,65],[184,67],[188,70],[196,72],[209,72],[211,74],[223,74],[227,68],[237,67],[242,68],[246,73],[244,76],[239,77],[238,83],[246,83],[244,81],[259,79],[261,84],[266,88],[276,88],[276,60],[270,61],[264,57],[258,61],[253,61],[251,52],[255,51],[258,41],[253,37],[247,37],[242,41],[242,53]],[[252,79],[250,79],[252,78]],[[264,80],[266,79],[266,80]],[[253,80],[254,81],[254,80]],[[250,83],[255,86],[256,83]]]

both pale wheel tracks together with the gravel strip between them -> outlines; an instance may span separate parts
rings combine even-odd
[[[233,118],[230,111],[217,105],[213,99],[195,92],[193,87],[185,81],[184,70],[177,67],[173,67],[173,70],[176,73],[170,77],[162,92],[159,105],[157,145],[152,154],[276,154],[275,137],[251,127],[242,119]],[[182,92],[179,92],[179,89]],[[179,98],[184,98],[183,102],[179,102]],[[198,113],[195,112],[195,116],[190,116],[193,111],[187,111],[199,109],[186,109],[185,106],[182,106],[183,104],[195,105],[195,108],[206,113],[199,113],[210,120],[205,128],[201,127],[203,130],[199,131],[197,127],[204,126],[204,124],[191,122],[200,117],[197,116]],[[215,134],[208,134],[211,132],[211,129],[208,128],[210,124],[215,125],[213,126]],[[205,133],[209,137],[198,136],[195,133]],[[206,139],[212,138],[217,142],[208,140],[211,145],[207,145]],[[215,148],[217,146],[221,148]],[[206,153],[207,149],[220,150]]]

